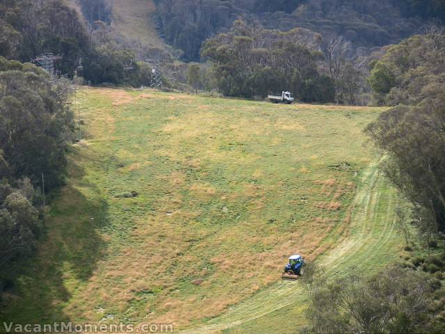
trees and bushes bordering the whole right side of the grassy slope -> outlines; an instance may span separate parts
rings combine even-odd
[[[325,280],[309,265],[302,278],[309,292],[304,332],[444,333],[444,54],[445,34],[432,29],[371,63],[375,99],[391,108],[365,132],[387,155],[382,168],[406,200],[396,221],[407,253],[371,278],[351,268]]]

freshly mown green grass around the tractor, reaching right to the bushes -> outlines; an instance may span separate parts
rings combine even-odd
[[[372,275],[400,260],[403,241],[394,227],[397,202],[396,191],[380,175],[378,164],[371,164],[362,173],[353,201],[350,236],[318,259],[323,279],[343,277],[350,271]],[[306,321],[306,303],[307,292],[298,282],[278,282],[210,324],[186,333],[273,333],[277,328],[298,331]]]

